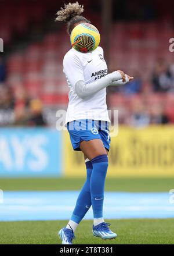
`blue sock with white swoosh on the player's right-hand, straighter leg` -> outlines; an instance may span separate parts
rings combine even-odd
[[[90,194],[93,218],[103,217],[104,183],[108,167],[107,155],[99,155],[91,161],[93,169],[90,177]]]

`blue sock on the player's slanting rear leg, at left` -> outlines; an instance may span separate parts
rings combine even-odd
[[[74,221],[76,223],[81,222],[86,212],[88,212],[89,208],[91,207],[90,176],[92,173],[92,164],[90,163],[90,161],[86,162],[86,172],[86,182],[78,195],[75,209],[73,211],[73,215],[71,216],[71,221]]]

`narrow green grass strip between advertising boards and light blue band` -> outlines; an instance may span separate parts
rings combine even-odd
[[[2,190],[79,190],[83,178],[0,179]],[[106,179],[106,191],[169,191],[174,189],[174,177],[114,177]]]

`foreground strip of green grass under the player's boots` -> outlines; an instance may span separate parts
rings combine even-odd
[[[174,219],[107,220],[117,239],[92,235],[92,221],[83,221],[74,244],[174,244]],[[67,221],[0,222],[0,244],[60,244],[57,230]]]

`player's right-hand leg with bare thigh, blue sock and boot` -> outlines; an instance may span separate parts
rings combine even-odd
[[[82,141],[80,148],[92,163],[90,194],[93,208],[93,235],[102,239],[112,239],[117,234],[111,232],[103,219],[104,183],[106,179],[108,157],[102,140]]]

